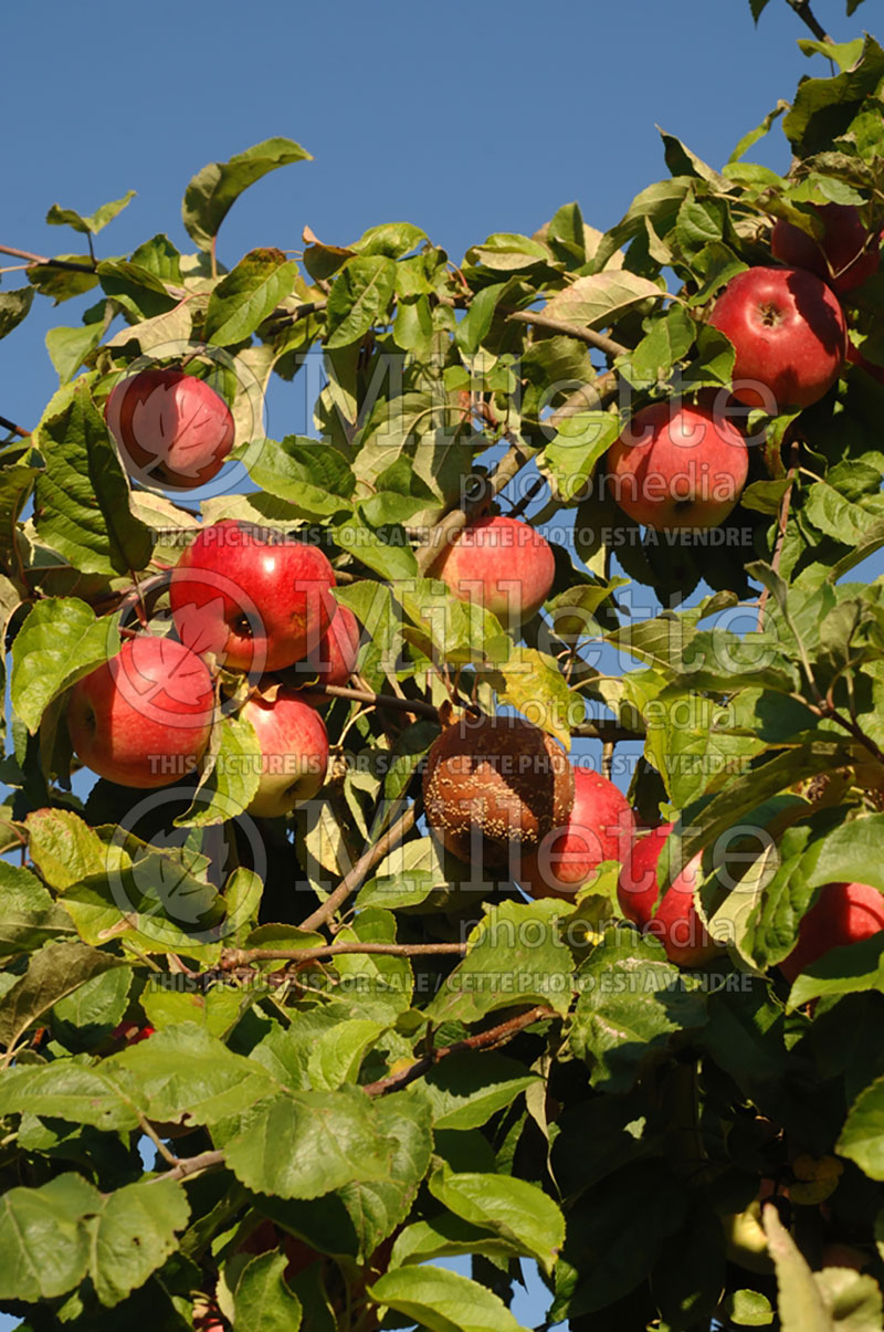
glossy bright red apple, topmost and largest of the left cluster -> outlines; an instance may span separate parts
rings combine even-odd
[[[273,671],[316,647],[337,610],[334,570],[316,546],[225,518],[204,527],[172,570],[178,637],[234,670]]]

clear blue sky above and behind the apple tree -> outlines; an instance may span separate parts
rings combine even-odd
[[[875,21],[871,4],[851,20],[844,9],[815,4],[836,40]],[[305,224],[346,244],[373,224],[411,221],[455,260],[490,232],[530,234],[571,200],[604,229],[667,174],[655,124],[720,165],[801,75],[827,73],[799,52],[809,33],[785,0],[771,0],[758,29],[747,0],[83,0],[37,16],[19,7],[3,36],[0,244],[76,250],[72,232],[45,225],[51,204],[91,213],[132,188],[99,254],[160,230],[192,249],[189,178],[273,135],[298,140],[316,160],[266,177],[228,216],[218,254],[229,265],[256,245],[298,248]],[[779,128],[752,156],[788,165]],[[24,285],[20,273],[0,281]],[[3,342],[0,414],[37,420],[57,386],[45,332],[79,324],[93,300],[39,300]],[[270,402],[277,438],[305,429],[282,420],[282,402]],[[541,1300],[517,1313],[539,1321]],[[0,1328],[13,1325],[0,1315]]]

